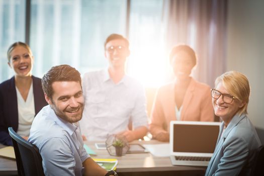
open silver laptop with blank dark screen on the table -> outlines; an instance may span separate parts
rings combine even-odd
[[[171,121],[172,165],[207,166],[214,153],[221,122]]]

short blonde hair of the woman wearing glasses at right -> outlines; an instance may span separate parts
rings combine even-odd
[[[238,71],[228,71],[218,76],[215,80],[215,86],[220,82],[223,83],[225,89],[239,101],[245,105],[238,110],[238,115],[247,114],[247,106],[250,96],[250,85],[247,77]]]

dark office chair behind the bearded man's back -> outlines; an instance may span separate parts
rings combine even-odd
[[[39,149],[18,135],[12,127],[8,128],[12,137],[19,176],[45,176]]]

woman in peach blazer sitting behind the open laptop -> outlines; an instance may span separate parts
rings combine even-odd
[[[169,141],[169,122],[214,121],[210,86],[190,76],[196,65],[196,54],[187,45],[178,45],[170,52],[175,80],[157,91],[150,122],[154,139]]]

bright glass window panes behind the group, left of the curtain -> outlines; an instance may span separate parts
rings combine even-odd
[[[128,2],[126,26],[124,0],[31,0],[33,75],[42,77],[59,64],[69,64],[81,74],[105,68],[104,42],[110,34],[118,33],[130,41],[128,74],[146,86],[160,84],[168,61],[164,55],[163,0]],[[6,63],[7,48],[16,41],[25,42],[25,0],[1,1],[0,9],[1,63]],[[7,64],[1,64],[0,71],[1,82],[14,75]]]

